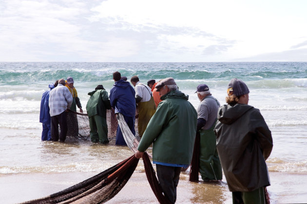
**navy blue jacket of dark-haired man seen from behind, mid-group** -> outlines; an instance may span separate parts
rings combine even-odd
[[[111,106],[115,113],[121,113],[124,116],[135,116],[135,91],[129,82],[119,80],[115,82],[110,90]]]

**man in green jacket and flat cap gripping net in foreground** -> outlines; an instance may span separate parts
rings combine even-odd
[[[197,113],[173,78],[166,78],[155,87],[162,102],[147,125],[135,157],[142,157],[153,143],[153,163],[160,186],[170,202],[175,203],[180,170],[187,168],[192,159]]]

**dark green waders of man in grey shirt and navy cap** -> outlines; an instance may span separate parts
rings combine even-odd
[[[216,121],[209,130],[201,129],[199,131],[199,173],[204,181],[221,180],[223,177],[221,162],[216,150],[216,136],[213,131]]]

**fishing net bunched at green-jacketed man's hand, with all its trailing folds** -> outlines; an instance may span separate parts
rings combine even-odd
[[[81,116],[85,118],[85,115],[86,114],[82,114]],[[138,141],[131,133],[127,123],[123,119],[123,116],[121,114],[117,114],[117,119],[126,143],[129,143],[128,147],[135,152],[137,150]],[[145,152],[142,158],[146,177],[158,202],[161,204],[170,204],[170,201],[163,195],[149,155]],[[51,194],[44,198],[24,202],[23,204],[105,203],[112,199],[126,185],[133,174],[138,161],[139,159],[132,155],[115,166],[104,170],[103,172],[72,187],[66,188],[58,193]]]

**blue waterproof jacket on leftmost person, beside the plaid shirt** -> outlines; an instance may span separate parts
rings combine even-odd
[[[47,90],[43,93],[40,101],[40,112],[39,112],[39,122],[50,124],[50,109],[49,109],[49,93],[55,86],[53,84],[49,84],[50,90]]]

